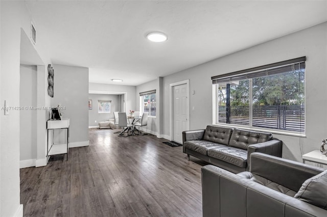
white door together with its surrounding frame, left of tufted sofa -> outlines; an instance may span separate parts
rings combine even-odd
[[[182,131],[190,129],[189,80],[171,84],[171,137],[182,144]]]

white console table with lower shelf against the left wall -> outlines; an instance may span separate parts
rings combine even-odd
[[[54,131],[55,129],[66,129],[67,138],[66,143],[64,144],[54,144]],[[48,133],[48,143],[47,147],[47,157],[56,154],[67,154],[68,160],[68,151],[69,151],[69,119],[63,120],[49,120],[46,122],[46,132]],[[52,130],[52,144],[49,146],[49,130]]]

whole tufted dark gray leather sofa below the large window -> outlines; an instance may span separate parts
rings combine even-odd
[[[247,171],[250,154],[282,156],[282,141],[271,133],[210,126],[183,131],[183,152],[233,173]]]

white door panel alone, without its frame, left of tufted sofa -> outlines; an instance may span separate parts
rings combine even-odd
[[[189,130],[187,85],[173,87],[173,141],[182,143],[182,131]]]

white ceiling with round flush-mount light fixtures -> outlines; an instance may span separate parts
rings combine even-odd
[[[327,21],[327,1],[26,1],[54,64],[139,85]],[[168,40],[148,41],[152,32]]]

